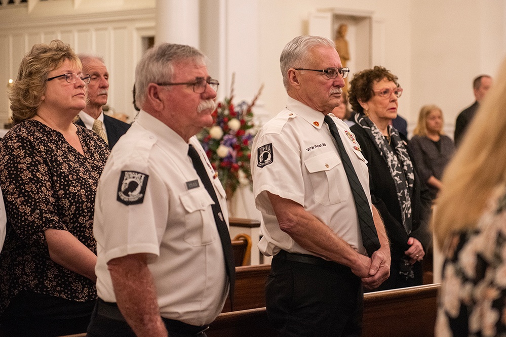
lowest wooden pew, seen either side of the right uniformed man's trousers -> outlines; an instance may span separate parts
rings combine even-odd
[[[370,292],[364,295],[364,337],[434,336],[439,284]],[[276,336],[265,308],[221,313],[208,337]]]

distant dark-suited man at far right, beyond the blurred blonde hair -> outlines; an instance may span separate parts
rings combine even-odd
[[[476,111],[478,111],[480,102],[483,97],[485,97],[485,94],[491,85],[492,77],[489,75],[480,75],[474,79],[473,92],[475,94],[476,101],[471,106],[462,110],[457,116],[457,121],[455,122],[455,136],[453,137],[455,147],[457,147],[462,140],[465,130],[468,128],[469,123],[476,114]]]

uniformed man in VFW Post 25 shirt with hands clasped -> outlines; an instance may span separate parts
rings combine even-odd
[[[331,114],[349,69],[318,36],[295,37],[280,61],[287,105],[258,132],[251,156],[258,246],[274,256],[267,316],[282,336],[360,336],[362,287],[388,277],[390,248],[360,147]]]

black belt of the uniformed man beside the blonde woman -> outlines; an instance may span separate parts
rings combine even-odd
[[[100,298],[97,300],[97,314],[109,319],[126,322],[125,317],[123,317],[120,309],[118,308],[118,305],[111,302],[105,302]],[[162,317],[162,320],[164,321],[167,330],[169,330],[169,334],[171,332],[179,332],[188,335],[199,336],[204,333],[204,331],[209,329],[209,325],[191,325],[165,317]]]

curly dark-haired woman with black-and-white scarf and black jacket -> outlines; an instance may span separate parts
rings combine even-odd
[[[372,203],[391,242],[390,278],[376,290],[422,284],[421,260],[429,248],[431,199],[420,181],[406,139],[390,124],[402,88],[383,67],[363,70],[348,91],[355,115],[353,131],[369,167]]]

